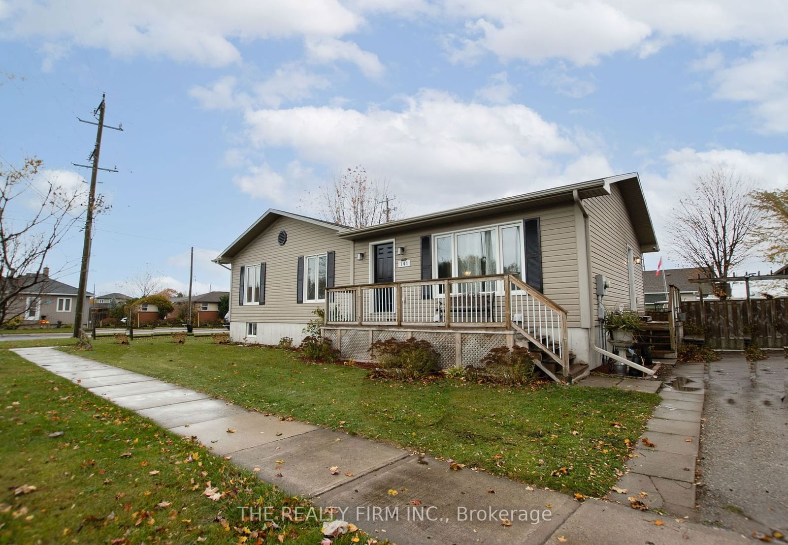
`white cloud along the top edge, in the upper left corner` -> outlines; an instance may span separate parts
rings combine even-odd
[[[337,37],[363,21],[337,0],[11,0],[5,6],[6,38],[40,37],[117,57],[166,56],[209,66],[239,62],[236,40]]]

